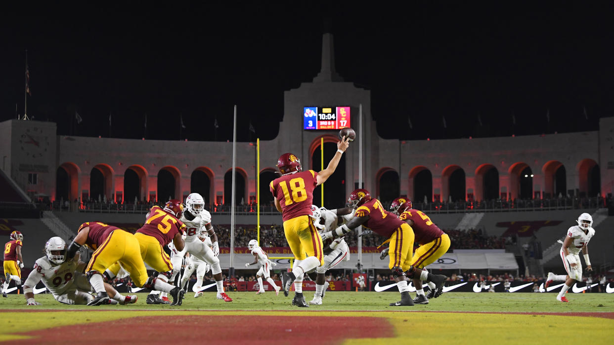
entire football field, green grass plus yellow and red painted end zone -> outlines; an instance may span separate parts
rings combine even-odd
[[[199,298],[187,294],[182,306],[147,305],[146,295],[138,294],[132,305],[98,307],[61,305],[51,295],[36,295],[42,305],[26,306],[23,295],[11,294],[0,298],[0,341],[61,343],[65,339],[56,335],[66,332],[131,343],[257,339],[313,344],[317,339],[321,344],[373,344],[411,339],[468,344],[482,338],[496,344],[535,344],[550,338],[611,344],[614,339],[612,294],[567,294],[570,303],[561,303],[553,293],[449,292],[429,305],[391,307],[388,303],[398,299],[398,292],[327,292],[324,305],[310,308],[290,306],[291,296],[273,292],[228,294],[233,302],[208,292]],[[311,300],[313,292],[305,297]],[[192,325],[204,333],[171,330]]]

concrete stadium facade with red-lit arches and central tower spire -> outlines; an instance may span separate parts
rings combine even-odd
[[[335,72],[333,37],[322,41],[322,70],[312,82],[284,93],[284,117],[274,140],[261,142],[260,172],[275,169],[277,157],[297,154],[304,169],[310,169],[311,156],[321,137],[336,142],[336,131],[303,131],[303,107],[339,105],[351,107],[351,126],[359,132],[359,110],[363,114],[363,180],[365,188],[376,195],[378,178],[387,170],[400,176],[400,194],[413,197],[414,177],[421,170],[432,174],[430,200],[448,200],[449,176],[457,169],[465,173],[465,199],[481,200],[483,176],[493,167],[499,173],[499,194],[510,199],[519,196],[520,173],[530,167],[533,191],[553,194],[554,173],[565,167],[567,191],[587,192],[590,171],[599,165],[600,194],[614,190],[614,118],[602,118],[599,130],[569,134],[529,135],[523,137],[473,138],[451,140],[384,140],[376,131],[371,116],[370,91],[344,82]],[[56,172],[62,167],[71,181],[69,197],[79,199],[90,191],[90,172],[97,167],[104,175],[107,197],[123,195],[127,169],[139,175],[139,199],[157,198],[160,170],[175,178],[174,197],[190,192],[190,176],[201,170],[211,181],[208,203],[221,200],[224,176],[231,169],[232,143],[182,142],[169,140],[130,140],[117,138],[68,137],[56,134],[56,124],[9,120],[0,123],[2,170],[31,195],[49,195],[55,200]],[[346,153],[346,195],[359,180],[359,148],[352,143]],[[246,202],[256,194],[256,155],[252,143],[237,143],[236,164],[243,176]],[[37,183],[29,183],[30,173]],[[379,194],[379,192],[377,192]],[[131,202],[132,200],[128,200]],[[422,200],[419,200],[422,201]]]

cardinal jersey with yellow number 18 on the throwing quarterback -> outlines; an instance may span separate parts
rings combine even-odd
[[[281,205],[283,221],[311,215],[313,190],[317,185],[317,172],[307,170],[284,175],[271,181],[270,190]]]

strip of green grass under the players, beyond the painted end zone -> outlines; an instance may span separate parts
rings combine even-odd
[[[147,305],[146,294],[136,294],[137,303],[117,306],[71,306],[53,300],[50,294],[36,295],[41,306],[27,306],[23,295],[10,294],[0,298],[0,309],[112,309],[112,310],[279,310],[279,311],[488,311],[488,312],[524,312],[524,313],[569,313],[569,312],[614,312],[614,298],[610,294],[567,294],[570,303],[561,303],[553,293],[495,293],[488,292],[449,292],[439,298],[430,300],[428,305],[412,307],[394,307],[388,303],[397,301],[398,292],[327,292],[323,305],[311,308],[297,308],[290,305],[289,297],[276,296],[273,292],[256,295],[254,292],[228,292],[233,302],[227,303],[216,299],[215,292],[206,292],[202,297],[194,298],[188,292],[182,306]],[[313,292],[305,292],[307,301]]]

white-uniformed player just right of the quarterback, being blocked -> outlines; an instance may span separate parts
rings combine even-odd
[[[324,207],[317,208],[316,205],[311,205],[313,211],[314,225],[319,232],[324,233],[331,229],[336,229],[338,224],[344,224],[354,217],[352,208],[340,208],[338,210],[327,210]],[[322,224],[324,223],[324,224]],[[324,265],[316,268],[316,293],[313,295],[313,300],[309,301],[311,305],[321,305],[322,297],[326,284],[326,271],[335,267],[343,260],[349,260],[349,247],[343,237],[329,238],[322,243],[324,252]]]

